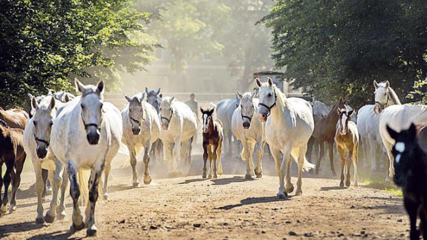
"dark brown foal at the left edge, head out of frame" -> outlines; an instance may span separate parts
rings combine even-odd
[[[10,201],[10,213],[16,210],[16,191],[21,182],[21,172],[27,155],[22,146],[23,130],[9,128],[8,124],[0,119],[0,173],[3,163],[6,164],[6,172],[3,178],[0,176],[0,191],[4,183],[4,196],[0,208],[0,214],[4,215],[7,210],[7,192],[12,182],[12,199]],[[1,196],[0,196],[1,201]]]

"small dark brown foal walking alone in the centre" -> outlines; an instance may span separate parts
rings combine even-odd
[[[206,161],[209,156],[209,177],[216,178],[216,159],[218,158],[218,174],[222,175],[222,163],[221,163],[221,147],[224,139],[223,125],[217,118],[213,118],[213,112],[215,108],[210,110],[203,110],[202,122],[203,122],[203,178],[206,178]],[[212,166],[213,161],[213,166]]]

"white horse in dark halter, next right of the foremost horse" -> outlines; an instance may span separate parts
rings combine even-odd
[[[122,142],[128,146],[133,174],[133,187],[139,186],[136,171],[136,156],[144,148],[144,184],[150,184],[151,176],[148,169],[150,162],[151,145],[160,134],[160,120],[157,111],[144,100],[144,94],[133,97],[126,96],[129,104],[122,110],[123,138]]]

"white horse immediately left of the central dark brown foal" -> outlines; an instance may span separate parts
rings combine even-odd
[[[182,171],[184,160],[189,164],[191,144],[197,130],[196,114],[175,97],[164,97],[160,104],[163,152],[169,172]],[[172,151],[173,148],[173,151]]]

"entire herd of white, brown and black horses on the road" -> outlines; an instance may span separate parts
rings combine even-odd
[[[66,217],[64,199],[69,185],[73,200],[72,229],[86,227],[87,235],[94,236],[97,234],[95,205],[99,195],[108,197],[111,162],[120,145],[125,144],[129,150],[134,187],[140,184],[136,156],[144,150],[143,180],[144,184],[149,184],[151,158],[162,160],[168,173],[182,172],[189,166],[198,121],[197,114],[185,103],[174,96],[162,96],[160,88],[157,91],[146,88],[145,93],[131,97],[125,95],[128,104],[119,111],[104,101],[102,81],[97,85],[84,85],[76,79],[75,85],[79,96],[50,91],[45,96],[29,95],[30,114],[0,108],[0,172],[2,164],[6,165],[4,177],[0,176],[0,190],[3,185],[5,188],[0,213],[7,210],[7,190],[11,183],[9,211],[16,210],[16,191],[28,156],[36,176],[36,222],[52,223]],[[318,174],[325,155],[325,142],[333,175],[336,175],[333,164],[333,146],[336,145],[341,187],[350,186],[351,165],[354,185],[358,185],[359,146],[364,150],[363,163],[370,163],[374,170],[378,168],[379,148],[389,160],[387,178],[394,179],[404,191],[405,207],[411,219],[411,238],[419,238],[417,216],[423,225],[427,224],[427,210],[423,206],[427,185],[417,184],[427,175],[424,151],[427,133],[422,126],[427,122],[427,106],[402,105],[388,81],[374,81],[374,86],[375,104],[363,106],[358,113],[343,99],[329,109],[318,101],[310,103],[302,98],[286,97],[270,78],[265,82],[257,79],[254,91],[237,92],[236,99],[224,99],[208,109],[201,108],[202,177],[216,178],[223,174],[222,146],[224,144],[231,152],[234,142],[241,143],[239,156],[247,162],[246,178],[262,177],[264,146],[268,144],[279,176],[277,196],[285,198],[294,191],[292,160],[298,166],[296,195],[300,195],[302,172]],[[320,147],[315,164],[312,163],[313,146]],[[52,185],[52,200],[44,216],[42,203],[47,178]],[[84,220],[80,210],[82,204],[86,204]],[[426,232],[423,235],[427,237]]]

